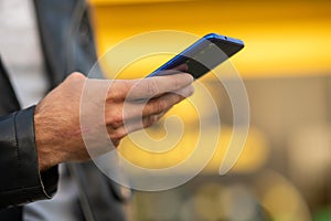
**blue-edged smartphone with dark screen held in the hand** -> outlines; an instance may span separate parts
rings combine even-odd
[[[147,77],[169,75],[173,72],[167,72],[167,70],[175,70],[175,67],[186,64],[188,70],[185,72],[190,73],[194,78],[199,78],[243,48],[244,42],[242,40],[210,33],[153,71]]]

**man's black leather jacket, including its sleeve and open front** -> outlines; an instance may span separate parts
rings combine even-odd
[[[50,87],[67,74],[88,74],[96,62],[92,28],[84,0],[35,0],[40,39]],[[0,63],[0,220],[21,220],[19,204],[51,198],[56,191],[57,167],[40,173],[34,141],[33,110],[20,110],[18,99]],[[120,187],[93,162],[72,164],[71,176],[79,183],[82,211],[92,220],[125,220]],[[8,209],[11,207],[10,209]]]

